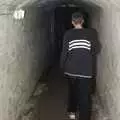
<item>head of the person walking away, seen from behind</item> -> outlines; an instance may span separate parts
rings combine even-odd
[[[72,24],[74,27],[77,25],[83,26],[83,24],[84,24],[83,14],[80,12],[73,13],[72,14]]]

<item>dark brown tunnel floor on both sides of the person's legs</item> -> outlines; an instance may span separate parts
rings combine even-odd
[[[68,120],[66,115],[67,81],[59,69],[54,68],[48,76],[48,90],[43,90],[32,103],[32,109],[21,120]],[[92,97],[91,120],[110,120],[104,112],[98,97]],[[33,107],[34,106],[34,107]]]

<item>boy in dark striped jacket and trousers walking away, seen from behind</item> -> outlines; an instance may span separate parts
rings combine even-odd
[[[92,56],[96,54],[97,32],[83,28],[84,17],[76,12],[72,15],[74,29],[64,35],[61,67],[69,83],[68,112],[76,119],[79,110],[81,120],[90,117],[89,84],[92,79]]]

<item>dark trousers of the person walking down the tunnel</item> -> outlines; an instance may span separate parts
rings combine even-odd
[[[68,112],[79,111],[80,118],[89,120],[90,117],[90,79],[68,78]]]

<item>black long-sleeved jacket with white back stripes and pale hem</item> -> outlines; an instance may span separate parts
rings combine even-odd
[[[61,68],[72,77],[92,78],[92,56],[98,51],[95,29],[71,29],[64,35]]]

